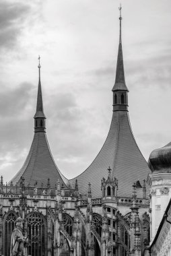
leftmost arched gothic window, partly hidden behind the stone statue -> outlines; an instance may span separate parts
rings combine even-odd
[[[4,218],[4,255],[10,256],[10,245],[11,245],[11,234],[13,232],[13,229],[15,228],[15,221],[17,217],[13,212],[10,212],[7,214],[7,216]]]

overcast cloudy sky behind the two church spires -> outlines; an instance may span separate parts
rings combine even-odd
[[[137,144],[170,142],[170,0],[1,0],[0,175],[20,170],[34,135],[38,55],[46,131],[67,178],[83,172],[108,134],[123,5],[129,116]]]

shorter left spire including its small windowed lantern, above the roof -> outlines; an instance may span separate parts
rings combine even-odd
[[[38,56],[38,95],[37,95],[37,105],[36,105],[36,114],[34,115],[34,131],[45,131],[45,115],[43,111],[43,102],[42,102],[42,86],[40,82],[40,55]]]

